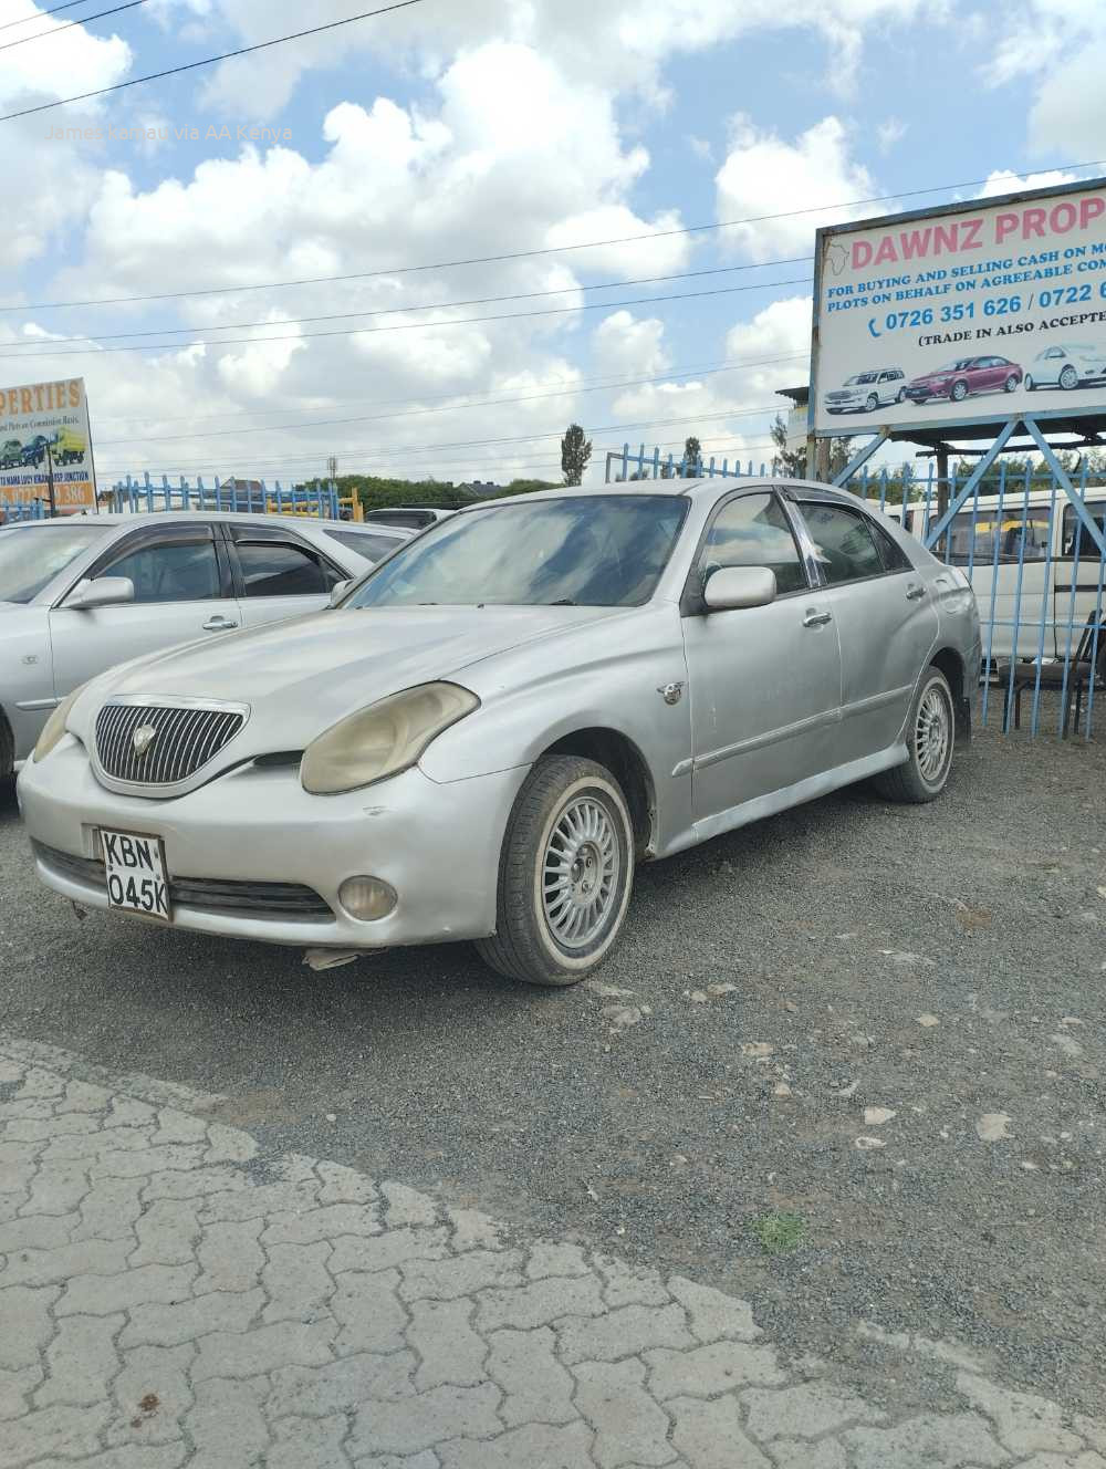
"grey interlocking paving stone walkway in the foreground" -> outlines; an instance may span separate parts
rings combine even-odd
[[[961,1404],[896,1415],[742,1300],[259,1159],[216,1100],[0,1036],[3,1469],[1106,1469],[962,1349],[881,1338]]]

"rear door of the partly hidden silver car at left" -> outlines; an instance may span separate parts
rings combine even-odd
[[[247,627],[322,611],[348,571],[283,526],[226,523]]]

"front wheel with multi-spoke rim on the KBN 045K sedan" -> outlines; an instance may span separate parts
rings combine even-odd
[[[526,777],[499,855],[480,958],[524,984],[577,984],[610,955],[633,889],[633,821],[604,765],[548,755]]]

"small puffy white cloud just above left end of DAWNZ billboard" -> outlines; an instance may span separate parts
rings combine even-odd
[[[723,231],[727,244],[751,260],[799,256],[814,250],[818,225],[871,213],[871,204],[824,207],[880,192],[868,169],[850,157],[849,142],[849,131],[839,118],[823,118],[787,142],[739,113],[731,123],[729,156],[715,179],[718,217],[752,223]]]

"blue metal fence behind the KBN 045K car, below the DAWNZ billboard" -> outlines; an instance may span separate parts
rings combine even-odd
[[[687,464],[645,445],[607,455],[608,482],[717,477],[786,474],[736,458]],[[1055,460],[999,460],[941,477],[931,460],[922,473],[864,464],[845,488],[972,583],[983,624],[978,721],[1090,739],[1096,699],[1106,698],[1106,477],[1085,460],[1072,473]]]

